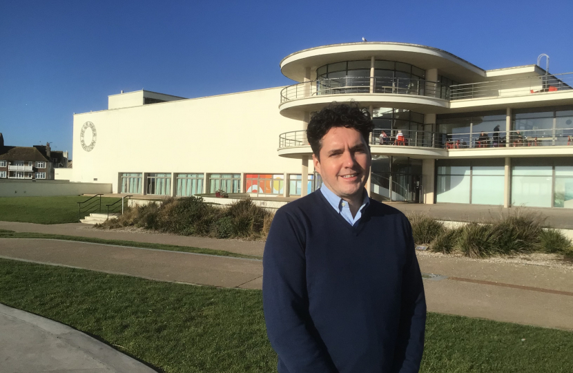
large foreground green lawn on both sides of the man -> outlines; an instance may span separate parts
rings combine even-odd
[[[0,302],[98,336],[168,373],[275,371],[261,291],[0,259]],[[569,373],[571,356],[571,332],[429,314],[421,371]]]

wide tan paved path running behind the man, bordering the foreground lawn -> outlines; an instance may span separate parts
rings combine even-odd
[[[0,257],[151,278],[261,289],[262,262],[59,240],[0,238]],[[573,330],[573,270],[420,255],[428,309]],[[447,277],[447,278],[444,278]]]

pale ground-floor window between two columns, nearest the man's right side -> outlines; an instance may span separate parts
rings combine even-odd
[[[436,202],[503,204],[503,159],[438,160]]]

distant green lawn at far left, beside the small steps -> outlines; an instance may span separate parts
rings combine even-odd
[[[62,224],[77,222],[77,202],[89,197],[66,195],[59,197],[0,197],[0,221]],[[106,204],[119,198],[101,198],[101,212]],[[99,212],[99,211],[97,211]]]

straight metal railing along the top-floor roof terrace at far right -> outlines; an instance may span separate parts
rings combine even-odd
[[[573,89],[573,73],[548,74],[538,77],[494,80],[449,86],[449,99],[522,96]]]

